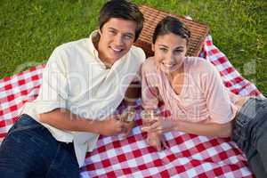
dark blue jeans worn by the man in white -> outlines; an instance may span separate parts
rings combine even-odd
[[[58,142],[33,118],[21,115],[0,147],[1,178],[77,178],[73,143]]]

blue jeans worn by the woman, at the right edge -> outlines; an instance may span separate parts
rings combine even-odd
[[[267,177],[267,100],[249,99],[239,110],[232,140],[258,178]]]

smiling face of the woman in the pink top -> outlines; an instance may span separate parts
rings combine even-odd
[[[174,33],[158,36],[152,50],[159,69],[169,73],[182,68],[187,41]]]

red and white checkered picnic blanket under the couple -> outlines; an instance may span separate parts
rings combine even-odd
[[[231,66],[211,36],[206,37],[201,56],[216,66],[233,93],[263,96]],[[36,99],[43,69],[40,65],[0,80],[0,142],[18,119],[23,104]],[[138,102],[136,110],[141,111]],[[82,177],[253,177],[246,158],[230,139],[170,132],[166,133],[170,148],[157,151],[145,142],[140,114],[135,121],[133,133],[124,140],[100,137],[97,148],[86,156]]]

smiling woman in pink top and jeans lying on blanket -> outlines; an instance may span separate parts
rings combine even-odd
[[[146,119],[149,144],[160,150],[162,134],[175,130],[231,137],[255,175],[267,177],[267,100],[228,91],[210,62],[185,57],[189,39],[189,29],[173,17],[155,29],[155,55],[142,65],[142,106],[150,112],[163,101],[171,116]]]

